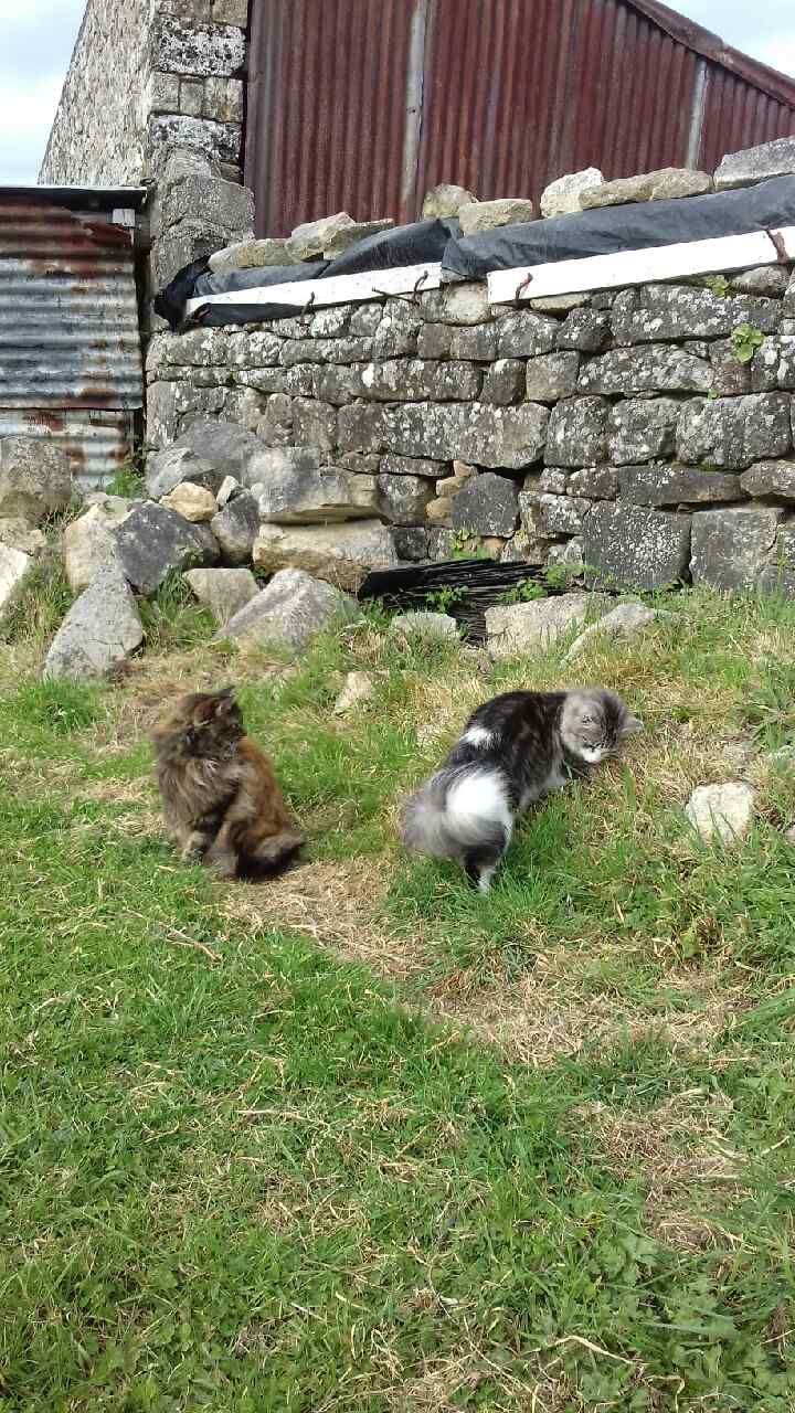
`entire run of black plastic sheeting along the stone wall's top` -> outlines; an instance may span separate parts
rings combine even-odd
[[[366,236],[330,261],[306,260],[294,266],[212,274],[207,259],[194,260],[160,291],[154,309],[173,329],[265,324],[300,311],[294,305],[277,302],[246,302],[246,290],[301,280],[328,280],[368,270],[399,270],[430,261],[440,261],[450,274],[480,280],[491,270],[553,264],[557,260],[671,246],[685,240],[741,236],[789,225],[795,225],[795,177],[774,177],[758,187],[709,196],[601,206],[570,216],[499,226],[478,236],[461,236],[457,220],[416,220],[409,226]],[[184,321],[187,300],[238,290],[242,295],[239,302],[205,304]]]

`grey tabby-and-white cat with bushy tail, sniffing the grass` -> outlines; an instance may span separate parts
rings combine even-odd
[[[488,893],[513,821],[642,731],[615,692],[502,692],[470,716],[440,769],[406,801],[407,849],[454,859]]]

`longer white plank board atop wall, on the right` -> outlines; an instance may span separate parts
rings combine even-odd
[[[781,237],[787,259],[795,260],[795,226],[782,226],[772,235]],[[583,256],[580,260],[559,260],[553,264],[492,270],[488,276],[488,298],[489,304],[513,304],[515,300],[617,290],[690,274],[720,274],[724,270],[775,264],[777,260],[778,252],[771,236],[765,230],[757,230],[743,236],[720,236],[716,240],[687,240],[610,256]]]

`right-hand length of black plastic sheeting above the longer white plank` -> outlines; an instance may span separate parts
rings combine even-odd
[[[478,236],[453,237],[443,266],[454,274],[482,280],[491,270],[744,236],[791,225],[795,225],[795,177],[775,177],[741,191],[600,206],[570,216],[499,226]]]

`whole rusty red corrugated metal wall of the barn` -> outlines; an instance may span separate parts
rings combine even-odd
[[[250,0],[257,232],[332,211],[413,220],[440,181],[713,170],[795,134],[795,79],[656,0]]]

